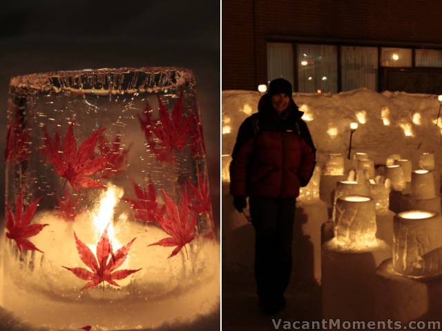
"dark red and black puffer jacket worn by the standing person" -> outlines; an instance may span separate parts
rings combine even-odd
[[[264,98],[264,97],[263,97]],[[259,112],[242,123],[230,165],[232,195],[298,197],[316,164],[316,150],[302,112],[291,100],[285,114],[260,102]]]

